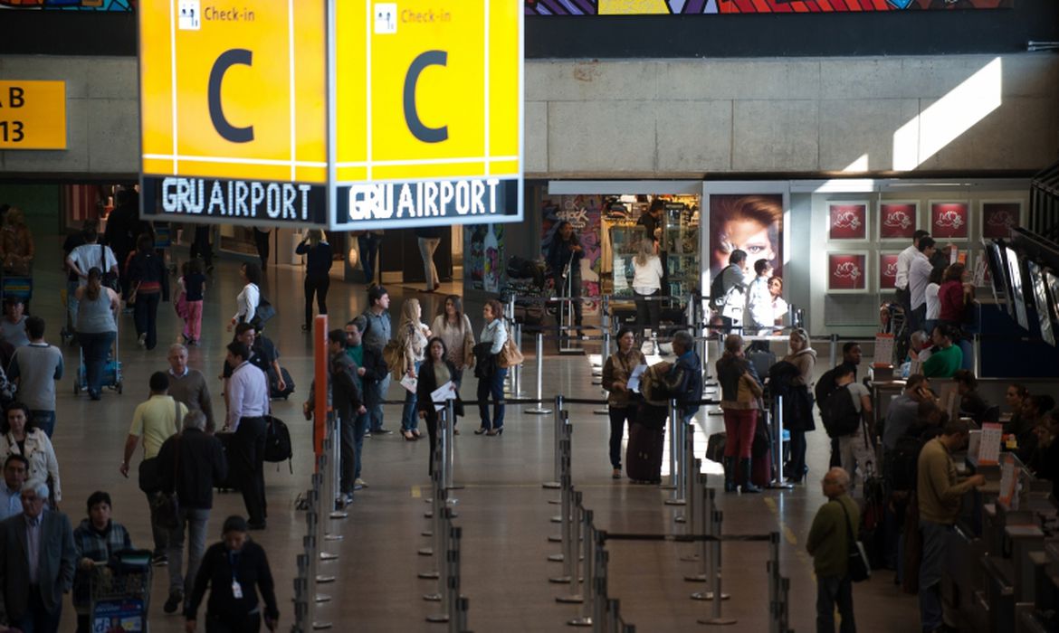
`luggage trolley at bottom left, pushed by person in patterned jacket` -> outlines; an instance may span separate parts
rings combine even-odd
[[[89,631],[112,633],[149,630],[150,550],[115,553],[106,564],[96,563],[91,578]]]

